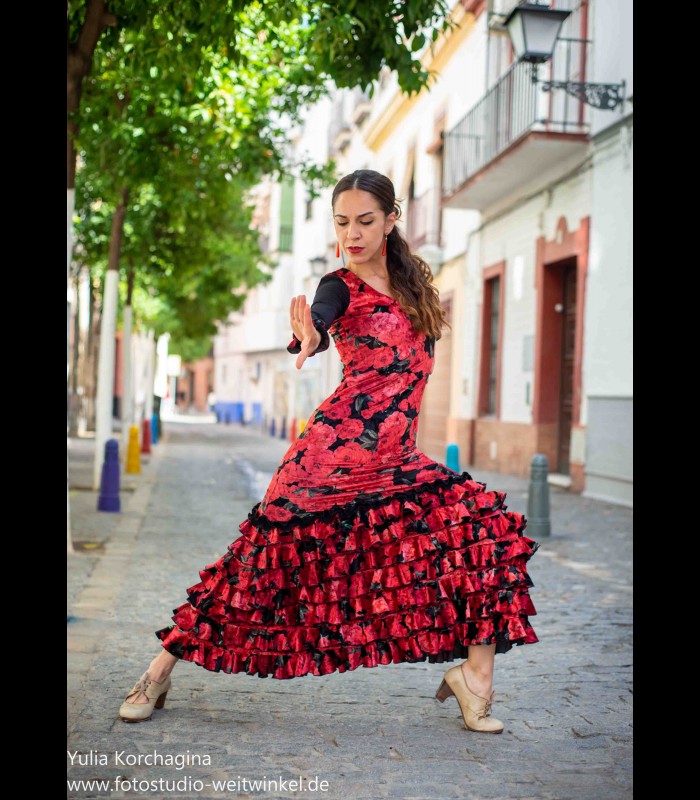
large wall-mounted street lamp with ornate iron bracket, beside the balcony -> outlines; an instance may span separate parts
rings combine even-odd
[[[571,14],[570,11],[550,8],[548,4],[544,5],[538,2],[521,2],[517,5],[504,22],[515,55],[520,61],[527,61],[533,65],[532,81],[539,84],[542,91],[551,92],[552,89],[563,89],[589,106],[612,111],[624,102],[624,81],[622,83],[584,83],[582,81],[541,81],[537,77],[537,65],[552,57],[559,31],[569,14]]]

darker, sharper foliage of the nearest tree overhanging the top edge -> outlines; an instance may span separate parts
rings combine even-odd
[[[149,69],[157,74],[174,67],[185,85],[200,79],[201,60],[217,53],[243,79],[239,97],[258,93],[254,76],[260,69],[284,72],[274,105],[279,113],[294,113],[328,80],[370,87],[385,65],[396,70],[404,91],[419,91],[429,75],[417,54],[449,14],[446,0],[346,0],[340,7],[318,0],[69,0],[67,8],[69,189],[83,82],[102,40],[115,47],[121,32],[138,32]],[[250,52],[253,41],[264,46],[262,60],[261,51]],[[243,103],[241,118],[250,107]],[[238,121],[237,115],[231,123]]]

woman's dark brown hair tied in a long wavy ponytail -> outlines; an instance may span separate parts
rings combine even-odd
[[[338,196],[348,189],[369,192],[387,216],[392,211],[396,212],[397,219],[401,216],[394,184],[380,172],[358,169],[341,178],[333,189],[333,208]],[[396,225],[387,238],[386,266],[392,293],[410,317],[413,330],[439,339],[443,325],[449,326],[449,323],[440,305],[438,290],[433,285],[433,273],[422,258],[411,253],[408,242]]]

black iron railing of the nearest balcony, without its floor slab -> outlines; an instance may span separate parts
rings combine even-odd
[[[570,39],[560,44],[556,63],[539,65],[539,77],[583,80],[579,67],[587,43]],[[518,61],[445,135],[443,197],[530,131],[586,133],[585,105],[565,92],[544,92],[533,82],[533,66]]]

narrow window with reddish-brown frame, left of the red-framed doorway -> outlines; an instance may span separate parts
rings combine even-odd
[[[500,417],[505,262],[484,271],[479,415]]]

